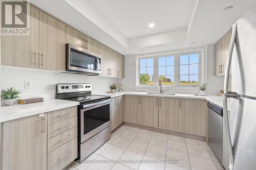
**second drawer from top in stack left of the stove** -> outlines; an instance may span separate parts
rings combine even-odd
[[[66,132],[67,130],[70,130],[74,127],[77,127],[77,116],[62,120],[61,122],[52,125],[48,125],[48,139],[62,132]]]

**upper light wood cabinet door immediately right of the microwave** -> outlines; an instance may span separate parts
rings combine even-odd
[[[101,55],[101,76],[109,76],[110,48],[99,43],[99,55]]]

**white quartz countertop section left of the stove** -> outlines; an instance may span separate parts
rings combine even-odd
[[[40,103],[2,106],[0,107],[0,123],[77,105],[79,105],[79,102],[51,99]]]

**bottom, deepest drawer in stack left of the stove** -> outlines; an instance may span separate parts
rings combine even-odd
[[[77,158],[77,137],[47,154],[47,169],[61,170]]]

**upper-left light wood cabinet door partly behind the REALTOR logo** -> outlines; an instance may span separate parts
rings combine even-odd
[[[39,10],[30,6],[30,35],[1,35],[1,64],[39,68]]]

